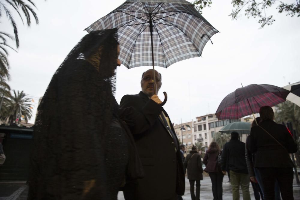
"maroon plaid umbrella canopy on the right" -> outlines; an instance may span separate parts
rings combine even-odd
[[[216,116],[221,119],[238,119],[258,113],[262,106],[275,106],[286,100],[289,91],[274,85],[248,85],[228,94],[220,103]],[[252,109],[252,111],[251,111]]]

